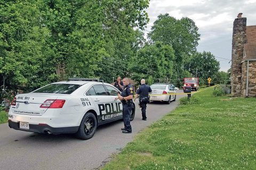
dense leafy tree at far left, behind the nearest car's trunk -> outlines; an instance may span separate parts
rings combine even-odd
[[[0,73],[9,89],[34,89],[54,80],[50,31],[40,24],[39,6],[37,1],[0,2]]]

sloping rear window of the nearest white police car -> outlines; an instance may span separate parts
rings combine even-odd
[[[81,84],[49,84],[41,89],[35,90],[34,92],[46,93],[46,94],[71,94],[76,89],[81,87]]]

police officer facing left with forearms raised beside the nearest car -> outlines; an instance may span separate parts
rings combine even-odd
[[[123,104],[123,119],[124,119],[124,128],[123,133],[132,133],[132,126],[130,123],[130,115],[132,112],[132,98],[133,98],[133,89],[130,84],[130,81],[128,78],[123,79],[124,83],[124,89],[122,94],[118,94],[118,97],[116,99],[121,100]]]

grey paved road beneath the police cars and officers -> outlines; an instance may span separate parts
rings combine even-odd
[[[181,92],[181,90],[177,91]],[[183,95],[182,95],[183,96]],[[177,96],[177,100],[182,97]],[[0,169],[98,169],[119,152],[142,129],[172,111],[178,101],[170,105],[150,103],[147,121],[141,120],[136,104],[136,115],[131,122],[132,133],[123,134],[123,122],[100,126],[90,140],[79,140],[74,135],[46,135],[10,129],[0,124]]]

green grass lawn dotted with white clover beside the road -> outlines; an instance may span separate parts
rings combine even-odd
[[[199,104],[152,124],[102,169],[256,169],[256,98],[212,92],[197,92]]]

